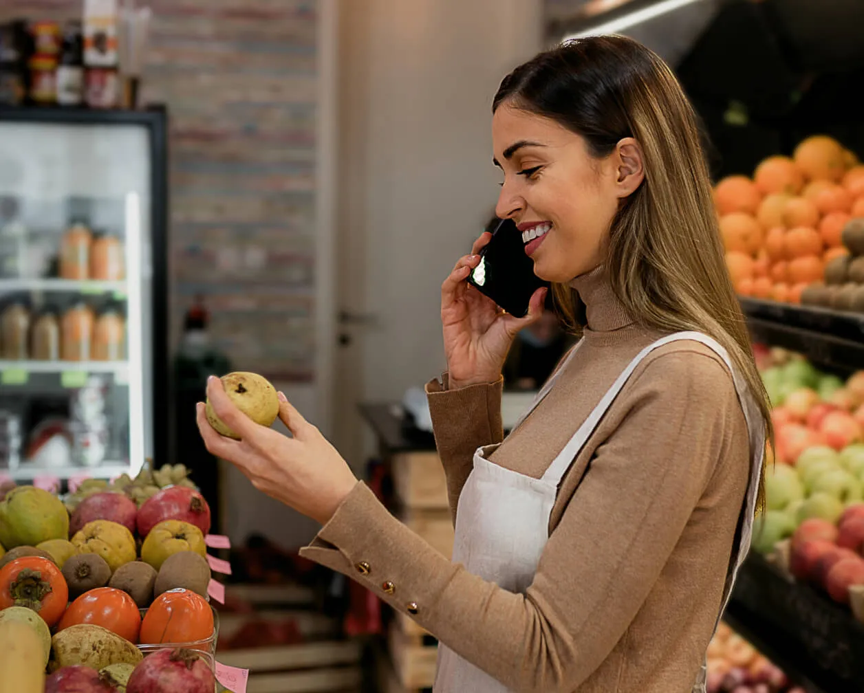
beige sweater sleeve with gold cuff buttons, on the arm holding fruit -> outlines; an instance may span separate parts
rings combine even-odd
[[[729,449],[746,431],[731,376],[707,356],[659,356],[621,396],[525,594],[451,564],[362,482],[302,555],[413,614],[512,690],[575,690],[645,602],[718,461],[746,457]]]

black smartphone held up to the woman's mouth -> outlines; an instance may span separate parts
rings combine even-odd
[[[534,292],[550,285],[534,274],[534,261],[525,255],[522,233],[512,219],[502,219],[492,231],[492,239],[480,250],[480,264],[468,273],[467,282],[517,318],[528,312]]]

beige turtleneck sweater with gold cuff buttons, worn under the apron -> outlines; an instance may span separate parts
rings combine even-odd
[[[529,476],[543,475],[627,363],[661,337],[633,323],[600,268],[571,286],[586,306],[584,343],[491,457]],[[449,391],[444,380],[427,392],[455,508],[474,450],[503,438],[502,383]],[[512,690],[689,693],[749,468],[726,366],[701,343],[674,342],[645,357],[575,457],[524,595],[451,564],[362,482],[301,553],[403,613],[416,605],[422,627]]]

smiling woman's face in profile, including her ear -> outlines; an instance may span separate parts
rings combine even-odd
[[[630,142],[638,150],[628,138],[595,159],[580,135],[549,118],[507,104],[495,111],[492,145],[504,172],[495,212],[518,224],[541,279],[564,283],[603,261],[619,202],[641,182],[641,155],[636,182],[622,149]]]

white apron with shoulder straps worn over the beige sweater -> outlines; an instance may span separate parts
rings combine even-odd
[[[487,457],[498,445],[487,445],[474,453],[473,470],[459,497],[453,562],[466,570],[497,583],[501,588],[524,593],[534,580],[537,563],[549,539],[549,520],[555,505],[558,485],[582,446],[594,432],[627,379],[652,350],[677,340],[701,342],[721,356],[733,375],[735,390],[744,410],[752,451],[750,481],[746,492],[746,507],[740,541],[733,547],[730,570],[723,590],[721,614],[726,608],[735,575],[746,558],[753,533],[753,513],[759,488],[759,475],[765,450],[765,427],[759,407],[740,375],[729,360],[727,351],[711,337],[699,332],[677,332],[649,344],[630,362],[624,372],[588,414],[588,419],[575,432],[573,438],[550,464],[540,479],[525,476],[490,462]],[[518,420],[516,428],[549,393],[557,376],[562,372],[581,343],[577,343],[569,356],[557,369],[529,410]],[[718,614],[717,622],[720,622]],[[435,693],[506,693],[507,689],[447,646],[438,646],[438,665],[435,675]],[[704,693],[705,666],[693,686],[694,693]]]

